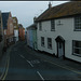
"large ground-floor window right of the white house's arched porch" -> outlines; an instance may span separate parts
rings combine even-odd
[[[81,56],[81,41],[73,41],[73,54]]]

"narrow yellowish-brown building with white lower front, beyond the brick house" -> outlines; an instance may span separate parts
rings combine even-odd
[[[17,17],[13,17],[13,26],[14,26],[14,42],[18,41],[18,22]]]

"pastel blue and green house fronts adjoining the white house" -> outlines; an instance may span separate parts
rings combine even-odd
[[[30,25],[27,29],[27,45],[37,50],[37,26],[36,24]]]

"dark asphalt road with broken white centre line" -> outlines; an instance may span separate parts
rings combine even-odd
[[[18,42],[12,48],[4,80],[81,80],[81,75],[36,56],[25,45]]]

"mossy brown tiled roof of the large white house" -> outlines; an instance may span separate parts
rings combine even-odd
[[[66,2],[48,9],[37,18],[37,22],[72,16],[76,14],[81,14],[81,1]]]

